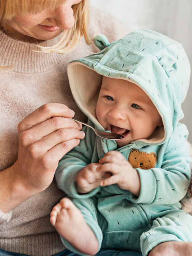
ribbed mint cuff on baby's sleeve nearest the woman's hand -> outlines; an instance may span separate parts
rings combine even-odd
[[[101,187],[98,187],[86,194],[79,194],[77,192],[75,176],[77,172],[79,172],[81,169],[82,166],[74,166],[73,168],[71,168],[70,172],[66,172],[66,174],[63,174],[63,177],[61,179],[63,181],[62,184],[58,184],[58,188],[63,190],[68,196],[71,196],[72,198],[90,198],[91,196],[96,195],[101,190]]]

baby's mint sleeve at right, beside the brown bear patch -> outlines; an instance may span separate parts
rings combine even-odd
[[[187,193],[191,179],[188,130],[179,125],[167,143],[161,168],[143,170],[136,168],[141,181],[138,198],[131,194],[131,202],[145,204],[173,204]],[[162,147],[163,148],[163,147]]]

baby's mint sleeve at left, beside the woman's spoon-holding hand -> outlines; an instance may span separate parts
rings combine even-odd
[[[88,124],[91,121],[88,121]],[[91,125],[91,124],[90,124]],[[80,144],[68,152],[59,162],[55,172],[55,179],[59,189],[63,190],[72,198],[89,198],[97,194],[101,187],[98,187],[86,194],[78,194],[75,185],[76,174],[91,163],[93,155],[93,147],[96,140],[96,135],[92,129],[84,126],[82,129],[85,132],[85,138],[80,141]]]

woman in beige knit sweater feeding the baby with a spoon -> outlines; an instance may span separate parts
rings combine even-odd
[[[66,66],[94,50],[80,40],[90,43],[89,1],[27,2],[0,0],[0,255],[74,255],[64,250],[49,213],[63,197],[53,180],[58,161],[84,137],[68,119],[74,112],[84,116],[73,101]],[[122,36],[109,16],[93,12],[92,20],[92,36]]]

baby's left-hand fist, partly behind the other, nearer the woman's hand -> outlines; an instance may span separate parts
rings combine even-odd
[[[100,186],[101,181],[111,176],[110,173],[97,172],[99,163],[88,164],[82,168],[76,175],[77,192],[84,194]]]

